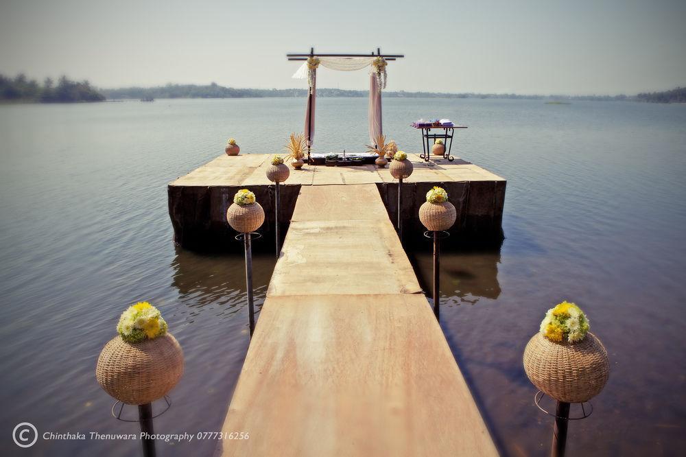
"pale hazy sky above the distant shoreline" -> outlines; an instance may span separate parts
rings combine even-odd
[[[403,53],[388,90],[637,93],[686,85],[686,1],[0,0],[0,73],[102,87],[305,87],[287,52]],[[318,86],[366,89],[366,70]]]

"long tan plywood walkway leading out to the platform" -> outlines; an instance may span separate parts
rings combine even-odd
[[[227,456],[497,455],[375,184],[300,189],[223,431],[250,434]]]

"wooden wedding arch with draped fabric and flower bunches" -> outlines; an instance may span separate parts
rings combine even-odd
[[[314,47],[309,54],[286,54],[288,60],[304,60],[293,78],[307,78],[307,110],[305,111],[305,139],[307,140],[307,161],[310,162],[310,150],[314,141],[314,113],[317,98],[317,69],[321,65],[338,71],[355,71],[370,67],[369,71],[369,139],[375,144],[377,137],[383,134],[381,121],[381,90],[386,89],[386,65],[389,60],[405,57],[403,54],[381,54],[377,47],[376,54],[316,54]]]

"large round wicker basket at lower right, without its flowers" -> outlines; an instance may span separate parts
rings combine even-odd
[[[554,342],[536,333],[524,349],[524,371],[545,395],[583,403],[605,386],[610,364],[605,347],[593,333],[576,343]]]

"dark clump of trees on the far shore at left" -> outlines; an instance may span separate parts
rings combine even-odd
[[[105,96],[99,93],[88,81],[71,81],[62,76],[57,84],[45,78],[43,85],[29,80],[19,73],[14,78],[0,75],[0,100],[5,102],[102,102]]]

